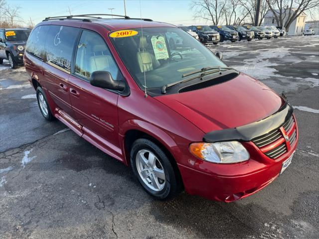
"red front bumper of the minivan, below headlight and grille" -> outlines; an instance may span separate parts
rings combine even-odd
[[[244,145],[251,154],[248,161],[235,164],[202,161],[194,165],[197,168],[178,165],[185,190],[192,195],[222,202],[233,202],[248,197],[262,190],[279,176],[283,162],[297,148],[297,141],[289,152],[276,160],[268,158],[254,143],[247,142]]]

